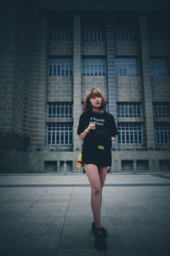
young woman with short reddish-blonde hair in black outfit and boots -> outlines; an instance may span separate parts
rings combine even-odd
[[[82,166],[91,186],[95,248],[101,251],[107,248],[107,231],[100,220],[102,189],[107,167],[111,166],[111,144],[116,140],[117,134],[115,119],[111,113],[104,111],[105,106],[105,98],[99,89],[88,90],[77,129],[78,136],[83,140]]]

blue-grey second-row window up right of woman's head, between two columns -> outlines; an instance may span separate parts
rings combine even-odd
[[[116,58],[116,77],[139,76],[139,61],[134,58]]]

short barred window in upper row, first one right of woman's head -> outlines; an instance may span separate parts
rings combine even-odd
[[[142,117],[142,104],[139,102],[117,102],[117,117]]]

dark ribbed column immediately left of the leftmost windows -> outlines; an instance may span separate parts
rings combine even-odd
[[[27,20],[27,61],[24,133],[30,137],[29,150],[37,148],[37,105],[39,79],[40,17],[32,13]]]

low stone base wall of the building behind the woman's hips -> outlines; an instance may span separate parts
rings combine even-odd
[[[24,152],[19,150],[0,151],[0,173],[63,172],[82,173],[77,168],[80,152]],[[168,151],[124,151],[112,153],[112,166],[108,172],[140,173],[169,172]]]

